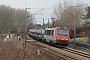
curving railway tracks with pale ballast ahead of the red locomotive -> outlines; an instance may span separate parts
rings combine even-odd
[[[90,54],[86,52],[82,52],[79,50],[75,50],[69,47],[66,48],[56,48],[49,46],[47,44],[43,44],[40,42],[36,42],[38,45],[42,46],[42,50],[51,53],[52,55],[60,57],[62,60],[90,60]]]

